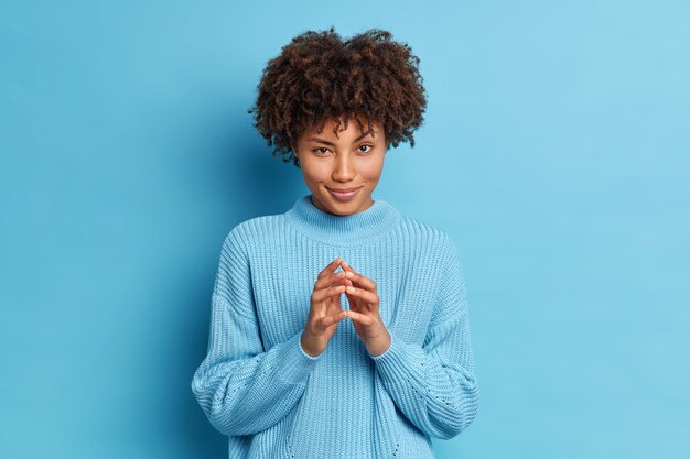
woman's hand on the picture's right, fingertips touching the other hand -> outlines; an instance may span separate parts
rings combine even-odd
[[[380,356],[390,347],[390,334],[378,314],[379,299],[376,283],[357,273],[343,261],[343,270],[348,281],[345,289],[349,310],[347,317],[353,320],[355,331],[371,356]]]

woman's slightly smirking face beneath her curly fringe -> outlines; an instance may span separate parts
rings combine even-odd
[[[336,122],[326,122],[322,132],[304,132],[293,147],[302,175],[319,209],[334,215],[352,215],[371,207],[371,192],[384,170],[386,139],[379,123],[365,131],[351,119],[336,136]]]

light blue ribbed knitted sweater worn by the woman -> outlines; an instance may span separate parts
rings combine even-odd
[[[380,356],[348,318],[323,353],[302,349],[316,275],[336,256],[377,284],[391,336]],[[284,214],[235,226],[211,303],[192,391],[228,436],[230,459],[433,458],[430,437],[454,437],[476,415],[457,248],[382,199],[336,216],[308,195]]]

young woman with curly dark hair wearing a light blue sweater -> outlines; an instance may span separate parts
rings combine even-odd
[[[255,125],[311,194],[223,243],[192,390],[230,458],[433,458],[475,417],[457,248],[373,197],[422,123],[418,64],[386,31],[331,29],[263,72]]]

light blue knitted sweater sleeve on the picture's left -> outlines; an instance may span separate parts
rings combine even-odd
[[[321,356],[304,352],[300,332],[265,350],[251,276],[238,231],[223,244],[212,295],[207,354],[192,392],[211,424],[225,435],[250,435],[282,419],[302,396]]]

